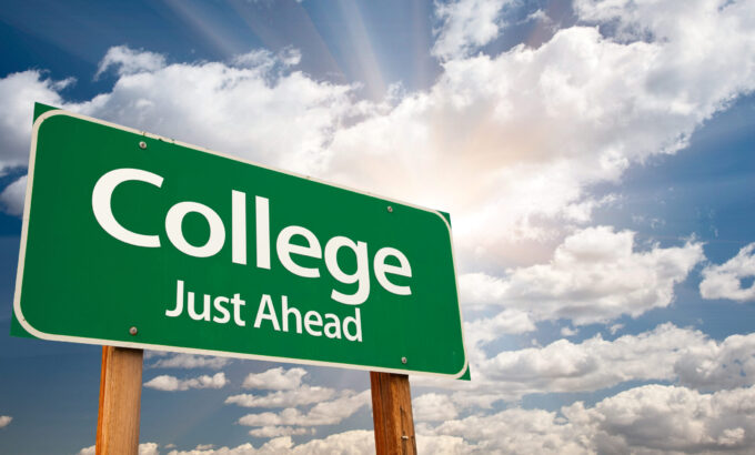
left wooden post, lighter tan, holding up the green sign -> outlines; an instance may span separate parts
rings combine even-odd
[[[139,412],[144,351],[102,346],[97,455],[139,453]]]

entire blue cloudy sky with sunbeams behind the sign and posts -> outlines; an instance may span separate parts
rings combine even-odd
[[[420,453],[752,453],[755,1],[0,6],[0,452],[93,453],[11,337],[33,102],[451,214],[472,381]],[[365,372],[147,352],[142,454],[374,452]]]

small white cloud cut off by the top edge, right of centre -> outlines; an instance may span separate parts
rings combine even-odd
[[[501,30],[501,10],[511,0],[460,0],[435,6],[442,22],[432,54],[441,60],[465,57],[491,42]]]

